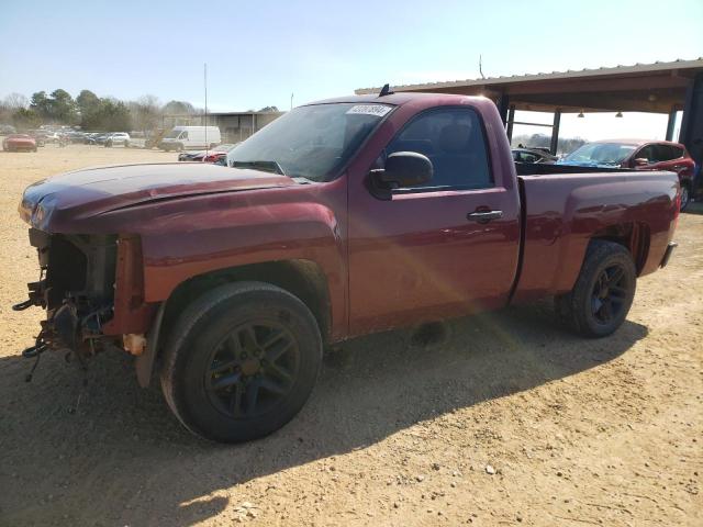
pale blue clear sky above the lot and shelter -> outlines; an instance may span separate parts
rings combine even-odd
[[[211,111],[287,110],[291,94],[299,105],[477,78],[479,55],[487,77],[691,59],[702,27],[701,0],[23,0],[1,8],[0,98],[90,89],[203,106],[208,63]],[[666,127],[651,115],[571,117],[562,136]]]

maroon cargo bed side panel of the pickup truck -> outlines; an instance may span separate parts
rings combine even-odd
[[[525,227],[514,301],[569,291],[593,237],[618,239],[634,248],[639,276],[659,267],[677,217],[676,173],[635,170],[551,173],[551,177],[517,178]]]

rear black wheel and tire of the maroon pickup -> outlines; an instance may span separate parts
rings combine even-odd
[[[571,292],[555,299],[559,319],[574,333],[605,337],[625,322],[637,284],[629,251],[620,244],[595,239]]]

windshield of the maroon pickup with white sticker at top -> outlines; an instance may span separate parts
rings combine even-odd
[[[297,108],[231,150],[227,165],[326,181],[392,109],[354,103]]]

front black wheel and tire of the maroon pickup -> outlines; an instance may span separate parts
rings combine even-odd
[[[313,390],[320,329],[305,304],[280,288],[220,287],[186,307],[172,327],[161,390],[193,434],[222,442],[267,436],[292,419]]]

